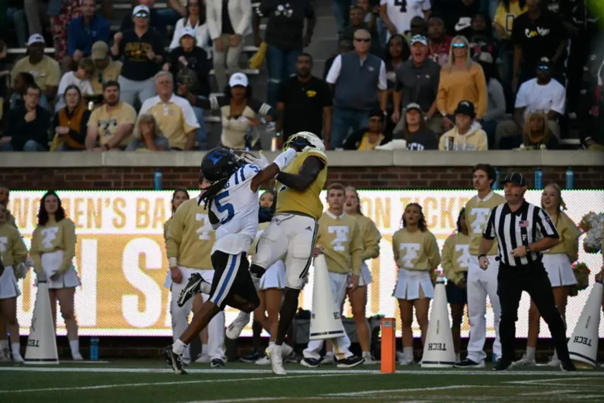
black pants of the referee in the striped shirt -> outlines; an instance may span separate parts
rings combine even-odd
[[[513,361],[514,340],[516,337],[516,320],[518,304],[522,291],[528,292],[539,309],[539,314],[550,328],[551,337],[558,353],[564,361],[570,359],[566,339],[566,326],[554,303],[550,279],[543,263],[537,262],[525,266],[507,266],[500,263],[497,275],[497,295],[501,304],[501,321],[499,335],[501,339],[501,359]]]

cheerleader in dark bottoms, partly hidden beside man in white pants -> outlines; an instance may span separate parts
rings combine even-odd
[[[457,232],[451,234],[443,246],[443,274],[447,278],[447,301],[451,305],[451,332],[455,350],[455,362],[461,361],[460,333],[463,308],[467,304],[467,269],[470,264],[470,235],[467,230],[466,209],[462,208],[457,217]]]

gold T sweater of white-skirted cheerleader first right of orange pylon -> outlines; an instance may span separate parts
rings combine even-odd
[[[430,271],[440,263],[439,245],[430,231],[401,228],[392,236],[392,251],[399,268]]]

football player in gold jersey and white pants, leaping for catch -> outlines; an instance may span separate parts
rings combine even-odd
[[[278,173],[277,208],[271,224],[262,233],[252,257],[252,276],[262,274],[277,260],[285,261],[285,288],[279,312],[275,344],[266,349],[272,371],[285,375],[281,347],[298,308],[298,295],[306,283],[315,245],[317,220],[323,213],[320,193],[327,179],[327,156],[323,141],[310,132],[291,135],[284,149],[297,153],[289,166]]]

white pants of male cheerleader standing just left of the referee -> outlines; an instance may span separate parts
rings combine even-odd
[[[493,307],[493,327],[495,327],[495,341],[493,341],[493,354],[501,357],[501,341],[499,339],[499,322],[501,319],[501,305],[497,295],[497,272],[499,262],[495,256],[487,256],[489,268],[483,270],[478,266],[478,257],[472,256],[467,269],[467,316],[470,321],[470,340],[467,343],[467,358],[476,363],[483,363],[486,358],[484,340],[486,338],[486,300],[489,297]]]

